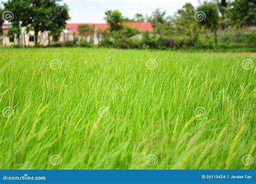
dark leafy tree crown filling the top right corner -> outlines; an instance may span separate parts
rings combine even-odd
[[[256,25],[255,11],[255,0],[235,0],[230,8],[231,23],[242,27]]]

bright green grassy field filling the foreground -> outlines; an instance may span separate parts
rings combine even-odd
[[[256,168],[255,53],[0,52],[2,169]]]

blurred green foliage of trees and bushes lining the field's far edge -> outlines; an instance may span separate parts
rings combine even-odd
[[[19,7],[22,7],[22,12]],[[27,31],[48,31],[49,37],[51,36],[56,41],[65,28],[65,21],[69,18],[66,5],[61,6],[52,0],[8,0],[5,3],[5,9],[12,11],[14,15],[19,15],[14,16],[12,21],[14,29],[10,31],[9,35],[11,36],[18,36],[18,32],[16,34],[14,30],[19,31],[20,26],[26,25]],[[98,38],[103,35],[102,42],[99,43],[100,46],[123,49],[185,49],[186,47],[214,47],[214,43],[215,45],[219,43],[220,46],[242,44],[251,46],[250,43],[255,43],[254,40],[251,40],[254,36],[248,30],[251,29],[250,26],[256,25],[255,11],[256,6],[253,0],[234,0],[232,2],[212,0],[198,8],[186,3],[173,17],[166,15],[166,11],[160,9],[154,10],[150,16],[136,13],[134,18],[126,18],[118,10],[109,10],[105,12],[105,20],[109,24],[109,28],[97,29],[96,35]],[[196,20],[197,12],[204,13],[203,21]],[[150,22],[153,32],[139,32],[137,29],[126,26],[126,22],[142,24]],[[79,35],[82,40],[90,35],[90,42],[93,42],[95,38],[92,36],[93,33],[95,33],[95,29],[92,26],[79,26]],[[36,31],[36,43],[37,34]],[[138,38],[142,35],[142,39]],[[251,38],[247,37],[248,35]],[[248,43],[249,39],[250,43]],[[77,41],[75,40],[75,42]],[[87,41],[83,42],[82,45],[87,46]],[[72,43],[68,45],[72,45]]]

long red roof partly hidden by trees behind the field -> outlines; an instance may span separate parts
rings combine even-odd
[[[102,23],[102,24],[95,24],[95,23],[70,23],[70,24],[66,24],[66,28],[69,30],[70,33],[78,33],[78,25],[85,25],[85,24],[89,24],[90,26],[93,26],[93,28],[95,28],[96,30],[100,29],[102,31],[105,31],[107,28],[109,28],[109,25],[106,23]],[[127,23],[123,23],[124,25],[128,25],[131,28],[137,28],[139,30],[139,32],[144,32],[144,31],[149,31],[149,32],[153,32],[153,27],[151,25],[151,23],[149,22],[127,22]]]

